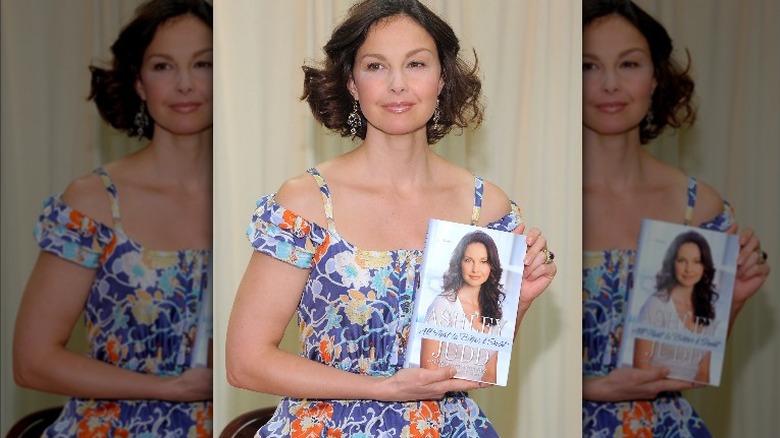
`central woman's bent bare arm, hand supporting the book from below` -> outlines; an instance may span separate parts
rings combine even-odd
[[[455,369],[402,369],[391,377],[342,371],[281,350],[279,343],[301,299],[309,271],[255,252],[228,323],[228,382],[252,391],[299,398],[407,401],[467,391],[476,382],[452,379]]]

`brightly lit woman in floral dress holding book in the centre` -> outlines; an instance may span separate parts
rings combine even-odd
[[[226,341],[232,385],[284,396],[258,436],[496,435],[464,392],[479,383],[402,367],[428,220],[524,229],[500,189],[430,148],[482,118],[476,69],[458,52],[421,3],[367,0],[324,64],[304,67],[314,117],[363,142],[258,202]],[[540,232],[527,237],[518,320],[556,271]],[[279,349],[296,311],[300,355]]]

